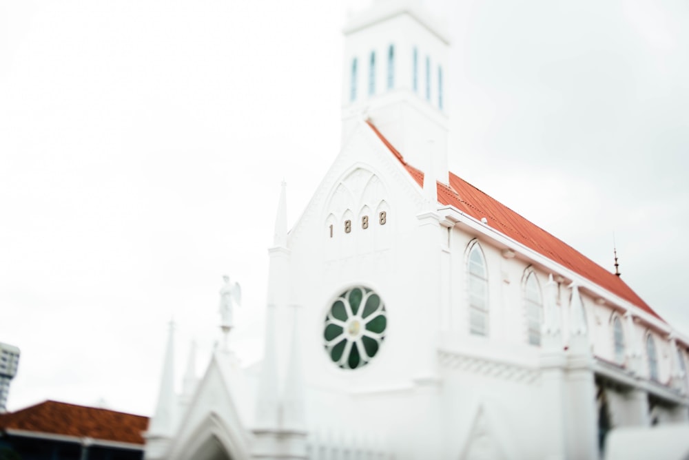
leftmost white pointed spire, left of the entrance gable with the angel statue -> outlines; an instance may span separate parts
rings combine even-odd
[[[158,391],[156,412],[151,418],[149,436],[170,437],[174,430],[176,397],[174,393],[174,322],[169,322],[167,349],[161,375],[161,386]]]

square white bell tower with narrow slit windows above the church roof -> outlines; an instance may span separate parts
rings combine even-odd
[[[342,142],[370,118],[405,160],[447,183],[448,34],[419,0],[374,0],[344,34]]]

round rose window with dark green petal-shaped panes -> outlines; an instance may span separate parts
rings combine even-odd
[[[325,317],[325,349],[341,368],[360,368],[378,353],[386,326],[380,296],[363,286],[353,287],[338,296]]]

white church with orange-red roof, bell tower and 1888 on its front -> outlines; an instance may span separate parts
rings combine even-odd
[[[283,185],[263,360],[220,346],[178,395],[171,334],[146,459],[598,459],[688,424],[689,337],[448,171],[448,37],[412,0],[349,20],[341,149],[289,232]]]

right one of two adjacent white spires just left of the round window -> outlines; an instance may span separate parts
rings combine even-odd
[[[299,307],[292,306],[292,343],[289,356],[289,367],[285,381],[285,393],[282,395],[283,422],[285,428],[303,430],[306,426],[304,414],[304,376],[299,349]]]

